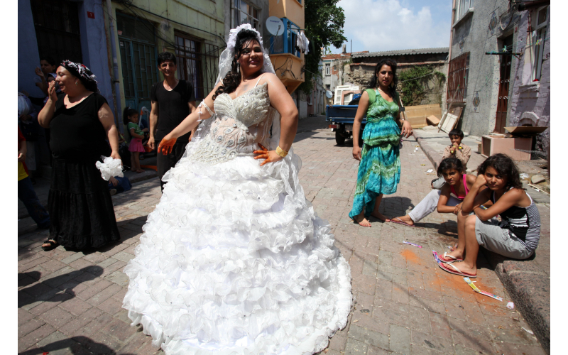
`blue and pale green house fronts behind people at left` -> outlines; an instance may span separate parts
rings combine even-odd
[[[82,62],[97,76],[122,129],[124,107],[150,109],[152,84],[163,80],[158,53],[170,51],[178,58],[178,77],[192,82],[200,100],[219,73],[224,8],[209,0],[18,0],[18,88],[41,95],[33,72],[41,56]]]

